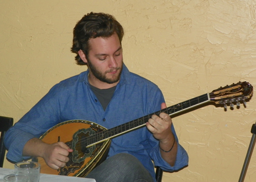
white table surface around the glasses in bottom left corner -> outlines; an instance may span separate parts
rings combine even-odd
[[[0,179],[4,179],[4,176],[13,174],[14,169],[0,168]],[[84,177],[72,177],[53,174],[40,174],[40,182],[96,182],[95,179]]]

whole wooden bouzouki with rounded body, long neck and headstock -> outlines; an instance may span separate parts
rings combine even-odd
[[[233,103],[239,106],[240,102],[243,102],[245,105],[252,92],[253,87],[248,82],[239,82],[110,129],[86,120],[65,121],[50,128],[40,139],[49,144],[59,141],[66,143],[73,149],[68,156],[70,161],[58,170],[50,168],[42,158],[34,158],[33,161],[41,164],[41,173],[84,177],[105,160],[112,138],[145,126],[152,115],[164,112],[172,116],[210,101],[222,104],[224,108],[227,105],[233,107]]]

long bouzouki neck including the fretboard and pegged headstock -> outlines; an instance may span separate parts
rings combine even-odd
[[[227,107],[227,104],[229,104],[230,107],[233,107],[233,102],[236,102],[237,106],[240,105],[240,101],[243,101],[244,104],[246,104],[245,100],[252,95],[252,91],[252,86],[247,82],[239,82],[230,86],[220,87],[219,89],[213,90],[211,93],[206,93],[193,99],[183,101],[174,106],[170,106],[155,113],[140,117],[130,122],[126,122],[95,135],[89,136],[87,137],[86,141],[87,147],[91,147],[92,145],[102,141],[112,139],[119,135],[123,135],[127,132],[138,129],[144,126],[148,119],[150,119],[154,114],[159,116],[159,114],[163,112],[169,116],[172,116],[174,114],[180,113],[190,108],[194,108],[198,105],[202,105],[203,103],[210,101],[214,101],[217,104],[222,104],[224,105],[224,108]]]

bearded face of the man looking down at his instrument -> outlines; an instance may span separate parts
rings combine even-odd
[[[100,82],[114,84],[119,82],[123,55],[117,34],[108,38],[91,38],[87,59],[90,74]]]

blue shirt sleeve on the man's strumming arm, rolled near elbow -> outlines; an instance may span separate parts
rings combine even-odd
[[[19,162],[28,159],[23,156],[25,144],[32,138],[39,138],[57,124],[57,90],[51,89],[36,105],[15,123],[6,133],[4,143],[8,150],[7,159]]]

